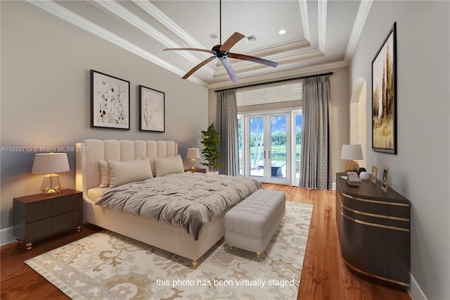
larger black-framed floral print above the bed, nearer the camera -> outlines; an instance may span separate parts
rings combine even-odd
[[[129,81],[91,70],[91,127],[129,130]]]

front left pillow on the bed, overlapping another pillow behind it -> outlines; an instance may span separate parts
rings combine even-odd
[[[110,187],[118,187],[128,182],[142,181],[153,177],[147,158],[134,161],[108,161]]]

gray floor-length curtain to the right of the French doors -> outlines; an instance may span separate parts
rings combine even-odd
[[[332,189],[329,75],[305,78],[299,187]]]

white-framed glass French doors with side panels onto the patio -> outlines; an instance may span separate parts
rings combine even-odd
[[[238,115],[239,175],[297,185],[301,135],[298,109]]]

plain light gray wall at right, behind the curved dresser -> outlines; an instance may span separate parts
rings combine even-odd
[[[373,1],[349,69],[371,103],[371,61],[397,21],[398,154],[371,151],[370,104],[367,159],[389,166],[389,187],[411,201],[413,299],[450,299],[449,19],[449,1]]]

